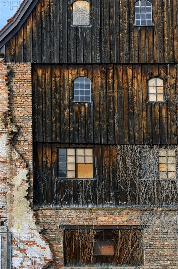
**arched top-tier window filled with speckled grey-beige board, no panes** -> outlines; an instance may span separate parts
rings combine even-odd
[[[87,1],[73,3],[73,25],[90,25],[90,4]]]

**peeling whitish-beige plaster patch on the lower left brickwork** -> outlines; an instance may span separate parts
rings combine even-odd
[[[28,268],[41,269],[45,264],[45,260],[51,260],[51,252],[49,246],[40,237],[37,231],[38,227],[34,224],[33,212],[29,208],[29,202],[25,198],[27,195],[27,169],[21,169],[17,176],[12,180],[14,183],[13,201],[8,208],[8,220],[10,230],[16,240],[17,247],[23,252],[20,258],[13,257],[12,265],[19,268],[20,263]],[[18,204],[16,201],[20,201]],[[16,256],[13,252],[13,256]],[[20,261],[21,260],[21,261]]]

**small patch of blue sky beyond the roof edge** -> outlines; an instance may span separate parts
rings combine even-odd
[[[2,29],[7,20],[11,18],[19,8],[23,0],[0,0],[0,29]]]

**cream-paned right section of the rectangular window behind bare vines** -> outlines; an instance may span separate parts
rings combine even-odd
[[[175,149],[159,150],[159,178],[176,179],[176,151]]]

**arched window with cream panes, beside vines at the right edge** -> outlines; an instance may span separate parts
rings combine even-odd
[[[164,87],[161,78],[150,78],[148,80],[149,102],[164,102]]]

